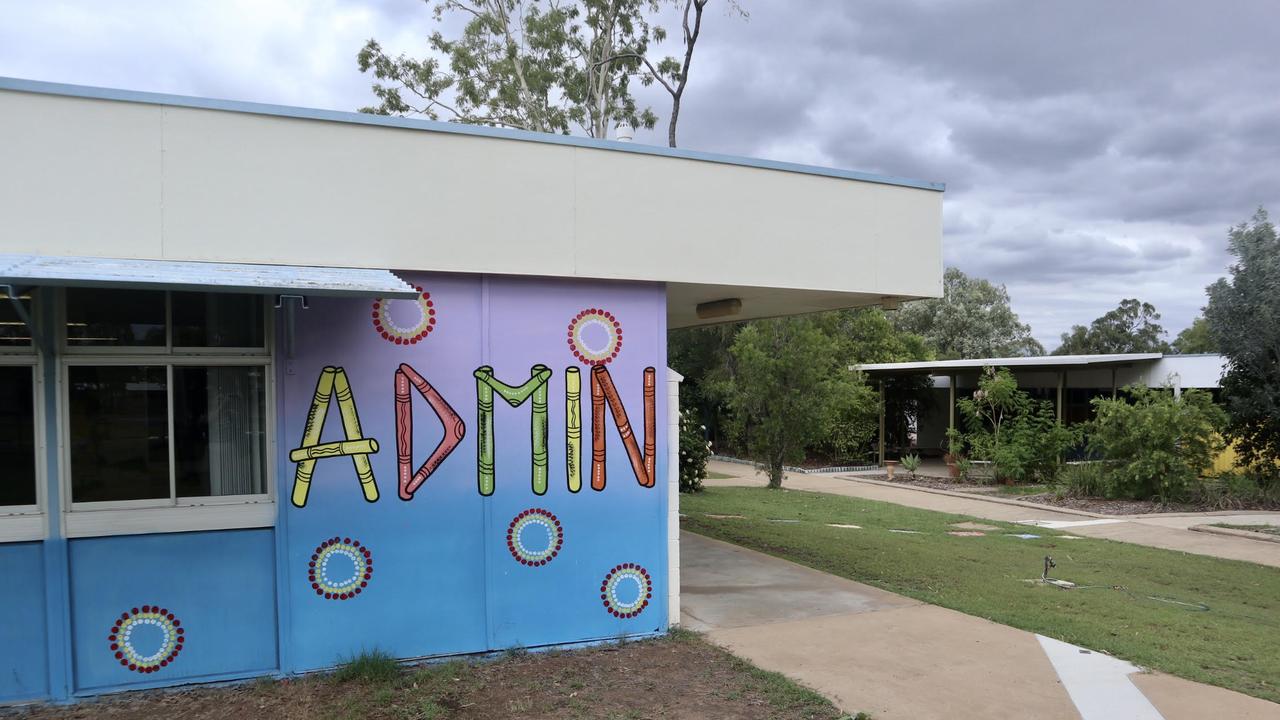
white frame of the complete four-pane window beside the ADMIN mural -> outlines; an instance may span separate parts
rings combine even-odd
[[[111,292],[113,288],[101,288]],[[70,368],[73,366],[159,366],[165,372],[169,437],[169,495],[148,500],[110,500],[76,502],[72,497],[70,443],[59,447],[59,488],[61,518],[67,537],[100,537],[165,532],[265,528],[275,525],[276,488],[276,410],[275,410],[275,327],[269,296],[262,299],[262,347],[174,347],[172,292],[157,291],[165,299],[165,345],[155,347],[93,347],[67,342],[65,291],[58,293],[58,415],[59,432],[70,437]],[[255,295],[255,293],[237,293]],[[174,368],[248,366],[262,368],[265,433],[262,473],[265,492],[210,497],[179,497],[177,456],[174,454]]]

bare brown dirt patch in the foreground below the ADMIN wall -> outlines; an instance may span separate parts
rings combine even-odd
[[[381,680],[260,680],[228,688],[145,691],[70,707],[18,711],[24,720],[840,716],[835,706],[812,691],[759,670],[691,633],[575,652],[406,667]]]

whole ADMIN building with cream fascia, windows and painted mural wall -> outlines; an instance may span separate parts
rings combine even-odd
[[[12,78],[0,137],[0,703],[663,633],[667,329],[941,293],[937,183]]]

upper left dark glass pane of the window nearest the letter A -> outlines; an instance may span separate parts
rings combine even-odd
[[[164,347],[164,291],[67,288],[67,345]]]

